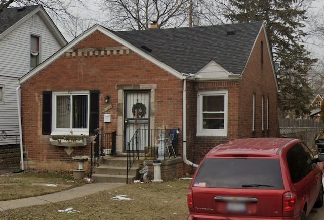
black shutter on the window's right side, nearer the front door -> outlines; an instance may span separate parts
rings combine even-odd
[[[99,127],[99,90],[90,90],[90,135]]]

